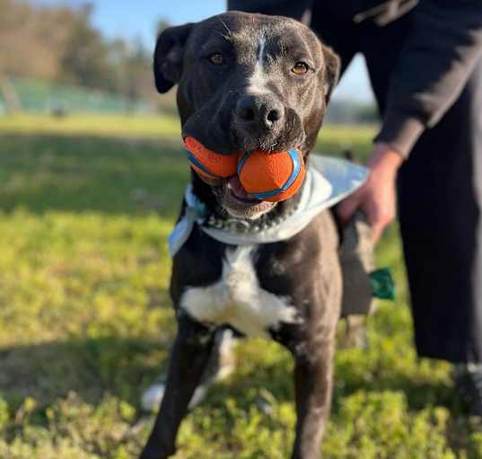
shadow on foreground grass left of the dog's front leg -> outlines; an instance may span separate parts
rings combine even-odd
[[[141,389],[165,366],[168,351],[166,342],[118,336],[3,349],[0,394],[13,410],[26,397],[41,410],[70,392],[92,404],[110,393],[137,405]]]

